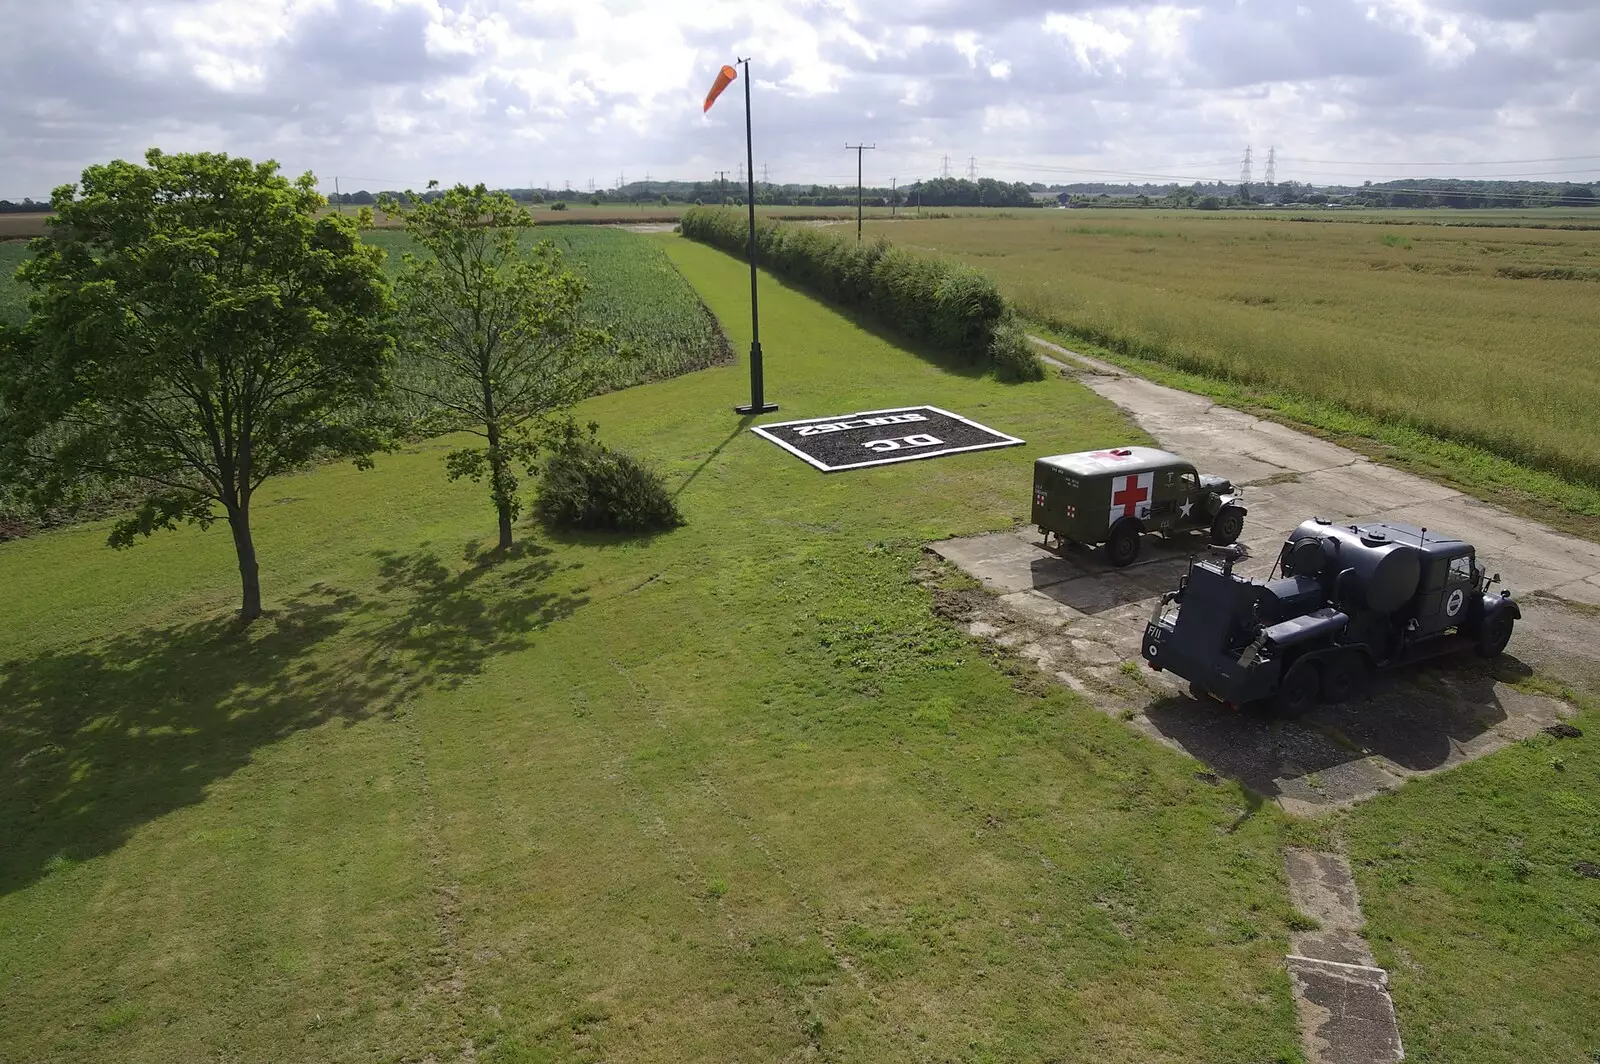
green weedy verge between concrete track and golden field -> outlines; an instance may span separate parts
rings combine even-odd
[[[1037,336],[1082,350],[1157,384],[1205,395],[1258,418],[1310,432],[1360,451],[1384,466],[1427,477],[1522,517],[1541,520],[1558,531],[1600,542],[1600,490],[1589,485],[1565,480],[1470,443],[1446,440],[1405,422],[1381,422],[1331,400],[1178,370],[1110,350],[1070,330],[1035,320],[1027,320],[1026,326]],[[1403,456],[1397,454],[1398,451],[1403,451]],[[1469,469],[1480,470],[1480,475],[1461,475],[1461,470]]]

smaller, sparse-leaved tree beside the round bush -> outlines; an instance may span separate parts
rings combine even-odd
[[[488,480],[506,550],[522,510],[515,470],[538,454],[541,422],[594,387],[605,334],[584,325],[584,283],[562,253],[528,246],[533,216],[509,195],[456,186],[408,211],[405,227],[426,254],[408,253],[400,274],[411,371],[397,384],[430,406],[429,429],[485,442],[451,451],[445,469]]]

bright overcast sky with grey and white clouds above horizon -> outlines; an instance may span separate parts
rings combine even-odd
[[[0,197],[146,147],[331,190],[1600,178],[1595,0],[5,0]],[[731,176],[731,174],[730,174]]]

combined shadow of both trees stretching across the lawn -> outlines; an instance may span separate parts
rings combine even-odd
[[[0,896],[117,850],[261,747],[528,646],[587,602],[542,586],[547,554],[453,573],[384,552],[382,598],[314,586],[250,627],[213,618],[0,662]]]

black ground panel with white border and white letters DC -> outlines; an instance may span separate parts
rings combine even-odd
[[[938,406],[894,406],[856,414],[779,421],[755,426],[752,432],[826,474],[1022,443],[1014,435]]]

